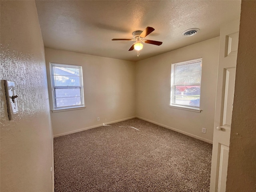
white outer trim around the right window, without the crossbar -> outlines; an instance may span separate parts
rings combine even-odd
[[[181,61],[181,62],[175,62],[171,64],[171,91],[170,91],[170,108],[176,108],[176,109],[181,109],[181,110],[188,110],[188,111],[192,111],[192,112],[201,112],[202,110],[201,105],[199,105],[199,107],[194,107],[194,106],[186,106],[186,105],[179,105],[179,104],[172,104],[172,100],[173,100],[173,87],[174,87],[174,65],[179,64],[179,65],[186,65],[186,64],[191,64],[194,63],[196,61],[201,61],[202,64],[202,57],[201,58],[195,58],[195,59],[190,59],[190,60],[186,60],[186,61]],[[201,78],[202,78],[202,70],[201,70]],[[202,85],[202,81],[200,83],[200,86]],[[200,93],[200,98],[201,98],[201,93]]]

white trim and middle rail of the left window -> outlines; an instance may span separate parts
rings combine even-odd
[[[75,67],[79,67],[80,68],[80,86],[54,86],[53,85],[53,81],[52,81],[52,66],[60,66],[60,67],[64,67],[64,66],[75,66]],[[85,104],[84,104],[84,86],[83,86],[83,72],[82,72],[82,66],[80,65],[74,65],[74,64],[62,64],[62,63],[55,63],[55,62],[50,62],[50,80],[51,80],[51,90],[52,90],[52,112],[62,112],[62,111],[70,111],[70,110],[79,110],[79,109],[84,109],[85,108]],[[64,88],[64,87],[74,87],[74,88],[77,88],[79,87],[80,88],[80,95],[81,95],[81,101],[82,101],[82,104],[80,105],[75,105],[75,106],[65,106],[65,107],[56,107],[55,105],[55,97],[54,97],[54,89],[55,88]]]

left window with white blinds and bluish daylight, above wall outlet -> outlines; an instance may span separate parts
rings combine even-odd
[[[53,109],[84,107],[82,66],[50,63]]]

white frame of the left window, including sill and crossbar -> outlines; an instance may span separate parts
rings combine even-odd
[[[79,69],[79,81],[80,86],[56,86],[53,82],[53,76],[55,73],[53,72],[53,66],[58,67],[70,67],[70,68],[78,68]],[[83,86],[83,73],[82,73],[82,66],[80,65],[74,65],[74,64],[62,64],[62,63],[54,63],[50,62],[50,80],[51,80],[51,89],[52,89],[52,112],[60,112],[60,111],[68,111],[68,110],[76,110],[76,109],[82,109],[85,108],[84,105],[84,86]],[[81,104],[79,105],[72,105],[72,106],[64,106],[64,107],[57,107],[56,106],[56,97],[55,92],[57,89],[63,89],[63,88],[79,88],[80,89],[80,96],[81,96]]]

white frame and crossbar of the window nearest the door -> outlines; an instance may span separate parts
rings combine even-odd
[[[177,84],[175,84],[174,82],[174,78],[175,78],[175,74],[174,74],[174,69],[175,66],[178,65],[186,65],[186,64],[193,64],[196,62],[201,62],[201,66],[202,66],[202,58],[195,58],[195,59],[190,59],[190,60],[186,60],[186,61],[181,61],[181,62],[175,62],[171,64],[171,91],[170,91],[170,104],[169,106],[171,108],[176,108],[176,109],[182,109],[182,110],[188,110],[188,111],[193,111],[193,112],[201,112],[201,105],[199,102],[199,106],[188,106],[188,105],[182,105],[182,104],[176,104],[174,103],[174,86],[177,86]],[[201,79],[200,79],[200,84],[198,83],[194,83],[194,84],[186,84],[186,86],[200,86],[200,90],[201,90],[201,86],[202,86],[202,68],[201,68]],[[201,92],[200,92],[200,96],[199,99],[201,98]]]

